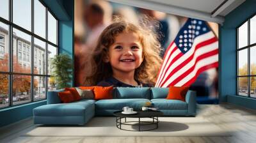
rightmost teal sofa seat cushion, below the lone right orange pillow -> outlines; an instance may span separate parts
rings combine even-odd
[[[158,107],[159,110],[187,110],[188,103],[181,100],[166,100],[166,99],[153,99],[151,100],[154,107]]]

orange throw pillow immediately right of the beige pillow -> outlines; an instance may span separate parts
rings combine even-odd
[[[95,100],[104,100],[104,99],[113,99],[112,91],[113,86],[109,87],[102,87],[102,86],[95,86],[94,89]]]

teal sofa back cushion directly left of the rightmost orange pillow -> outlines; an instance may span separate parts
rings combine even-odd
[[[166,98],[168,93],[168,87],[151,87],[151,99]]]

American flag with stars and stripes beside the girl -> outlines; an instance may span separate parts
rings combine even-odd
[[[164,54],[156,87],[190,86],[201,72],[218,67],[218,38],[206,22],[188,19]]]

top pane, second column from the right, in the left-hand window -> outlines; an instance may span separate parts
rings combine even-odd
[[[34,11],[34,33],[45,38],[46,8],[40,1],[35,0]]]

